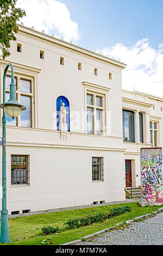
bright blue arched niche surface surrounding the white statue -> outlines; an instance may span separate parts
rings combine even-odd
[[[59,96],[57,98],[57,131],[59,131],[59,109],[61,107],[62,102],[65,103],[66,111],[68,114],[66,115],[66,123],[67,123],[67,130],[70,132],[70,103],[65,96]]]

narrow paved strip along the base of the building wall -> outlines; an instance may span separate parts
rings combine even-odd
[[[33,211],[29,212],[27,214],[16,214],[16,215],[9,215],[9,218],[17,218],[22,216],[31,216],[31,215],[37,215],[37,214],[48,214],[49,212],[58,212],[58,211],[70,211],[70,210],[76,210],[76,209],[85,209],[85,208],[92,208],[102,205],[110,205],[110,204],[124,204],[124,203],[132,203],[132,202],[138,202],[140,199],[134,199],[134,198],[127,198],[126,201],[122,202],[112,202],[112,203],[105,203],[105,204],[94,204],[94,205],[81,205],[81,206],[72,206],[67,208],[59,208],[59,209],[51,209],[51,210],[43,210],[43,211]],[[1,217],[0,217],[1,220]]]

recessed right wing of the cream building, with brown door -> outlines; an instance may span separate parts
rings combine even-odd
[[[133,187],[141,184],[140,149],[162,147],[162,104],[160,97],[122,90],[124,161]]]

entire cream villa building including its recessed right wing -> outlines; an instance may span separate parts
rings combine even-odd
[[[9,214],[126,200],[140,186],[140,148],[162,147],[163,99],[122,90],[124,63],[22,25],[10,53],[1,102],[12,63],[26,110],[7,117]]]

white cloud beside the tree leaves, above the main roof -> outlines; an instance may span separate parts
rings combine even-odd
[[[78,24],[71,19],[65,4],[56,0],[18,0],[17,7],[26,10],[26,17],[20,20],[24,26],[34,26],[46,34],[57,31],[66,41],[78,41]]]

